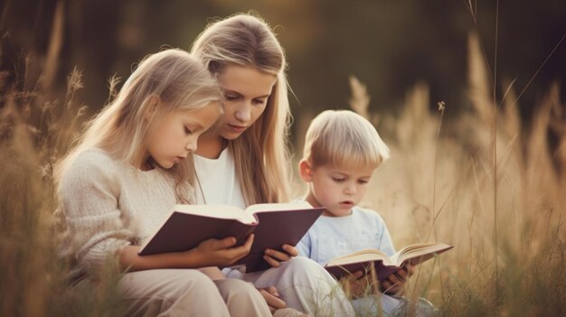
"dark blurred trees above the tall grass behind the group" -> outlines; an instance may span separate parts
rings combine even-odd
[[[395,112],[407,89],[426,82],[431,107],[442,100],[456,113],[467,107],[468,33],[479,33],[492,70],[496,47],[500,92],[501,79],[516,79],[516,91],[524,89],[566,33],[563,0],[499,1],[498,10],[496,1],[467,0],[2,0],[0,92],[24,85],[17,73],[26,61],[44,61],[58,3],[63,19],[55,82],[61,85],[52,92],[65,89],[76,67],[86,87],[78,98],[91,111],[108,100],[111,76],[127,78],[136,61],[163,45],[189,50],[210,18],[250,9],[276,28],[287,51],[295,117],[303,109],[347,107],[350,75],[367,85],[373,110]],[[565,82],[565,56],[566,41],[519,101],[525,117],[552,81]]]

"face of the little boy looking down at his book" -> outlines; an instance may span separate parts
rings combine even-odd
[[[300,163],[301,177],[308,182],[307,201],[313,206],[323,206],[324,216],[344,217],[352,212],[365,194],[374,168],[335,168]]]

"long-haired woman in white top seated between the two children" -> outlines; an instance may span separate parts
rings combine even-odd
[[[250,14],[236,14],[210,24],[192,52],[218,79],[224,114],[199,139],[196,198],[199,203],[245,207],[288,200],[289,104],[285,55],[268,24]],[[321,316],[354,311],[334,279],[316,262],[297,256],[297,248],[267,249],[265,272],[229,277],[262,290],[272,310],[287,305]],[[207,274],[223,278],[218,269]]]

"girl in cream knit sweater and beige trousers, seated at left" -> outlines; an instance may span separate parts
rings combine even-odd
[[[142,61],[116,100],[95,117],[56,169],[66,232],[61,256],[75,286],[96,286],[113,259],[126,315],[264,316],[269,307],[247,283],[215,281],[195,269],[229,265],[250,251],[234,238],[186,252],[138,256],[140,244],[175,203],[193,202],[197,139],[222,113],[210,73],[180,50]]]

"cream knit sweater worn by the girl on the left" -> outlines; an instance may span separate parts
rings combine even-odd
[[[175,181],[163,169],[140,171],[100,149],[81,153],[62,177],[66,224],[60,255],[71,258],[71,281],[96,273],[119,247],[140,245],[176,203]]]

